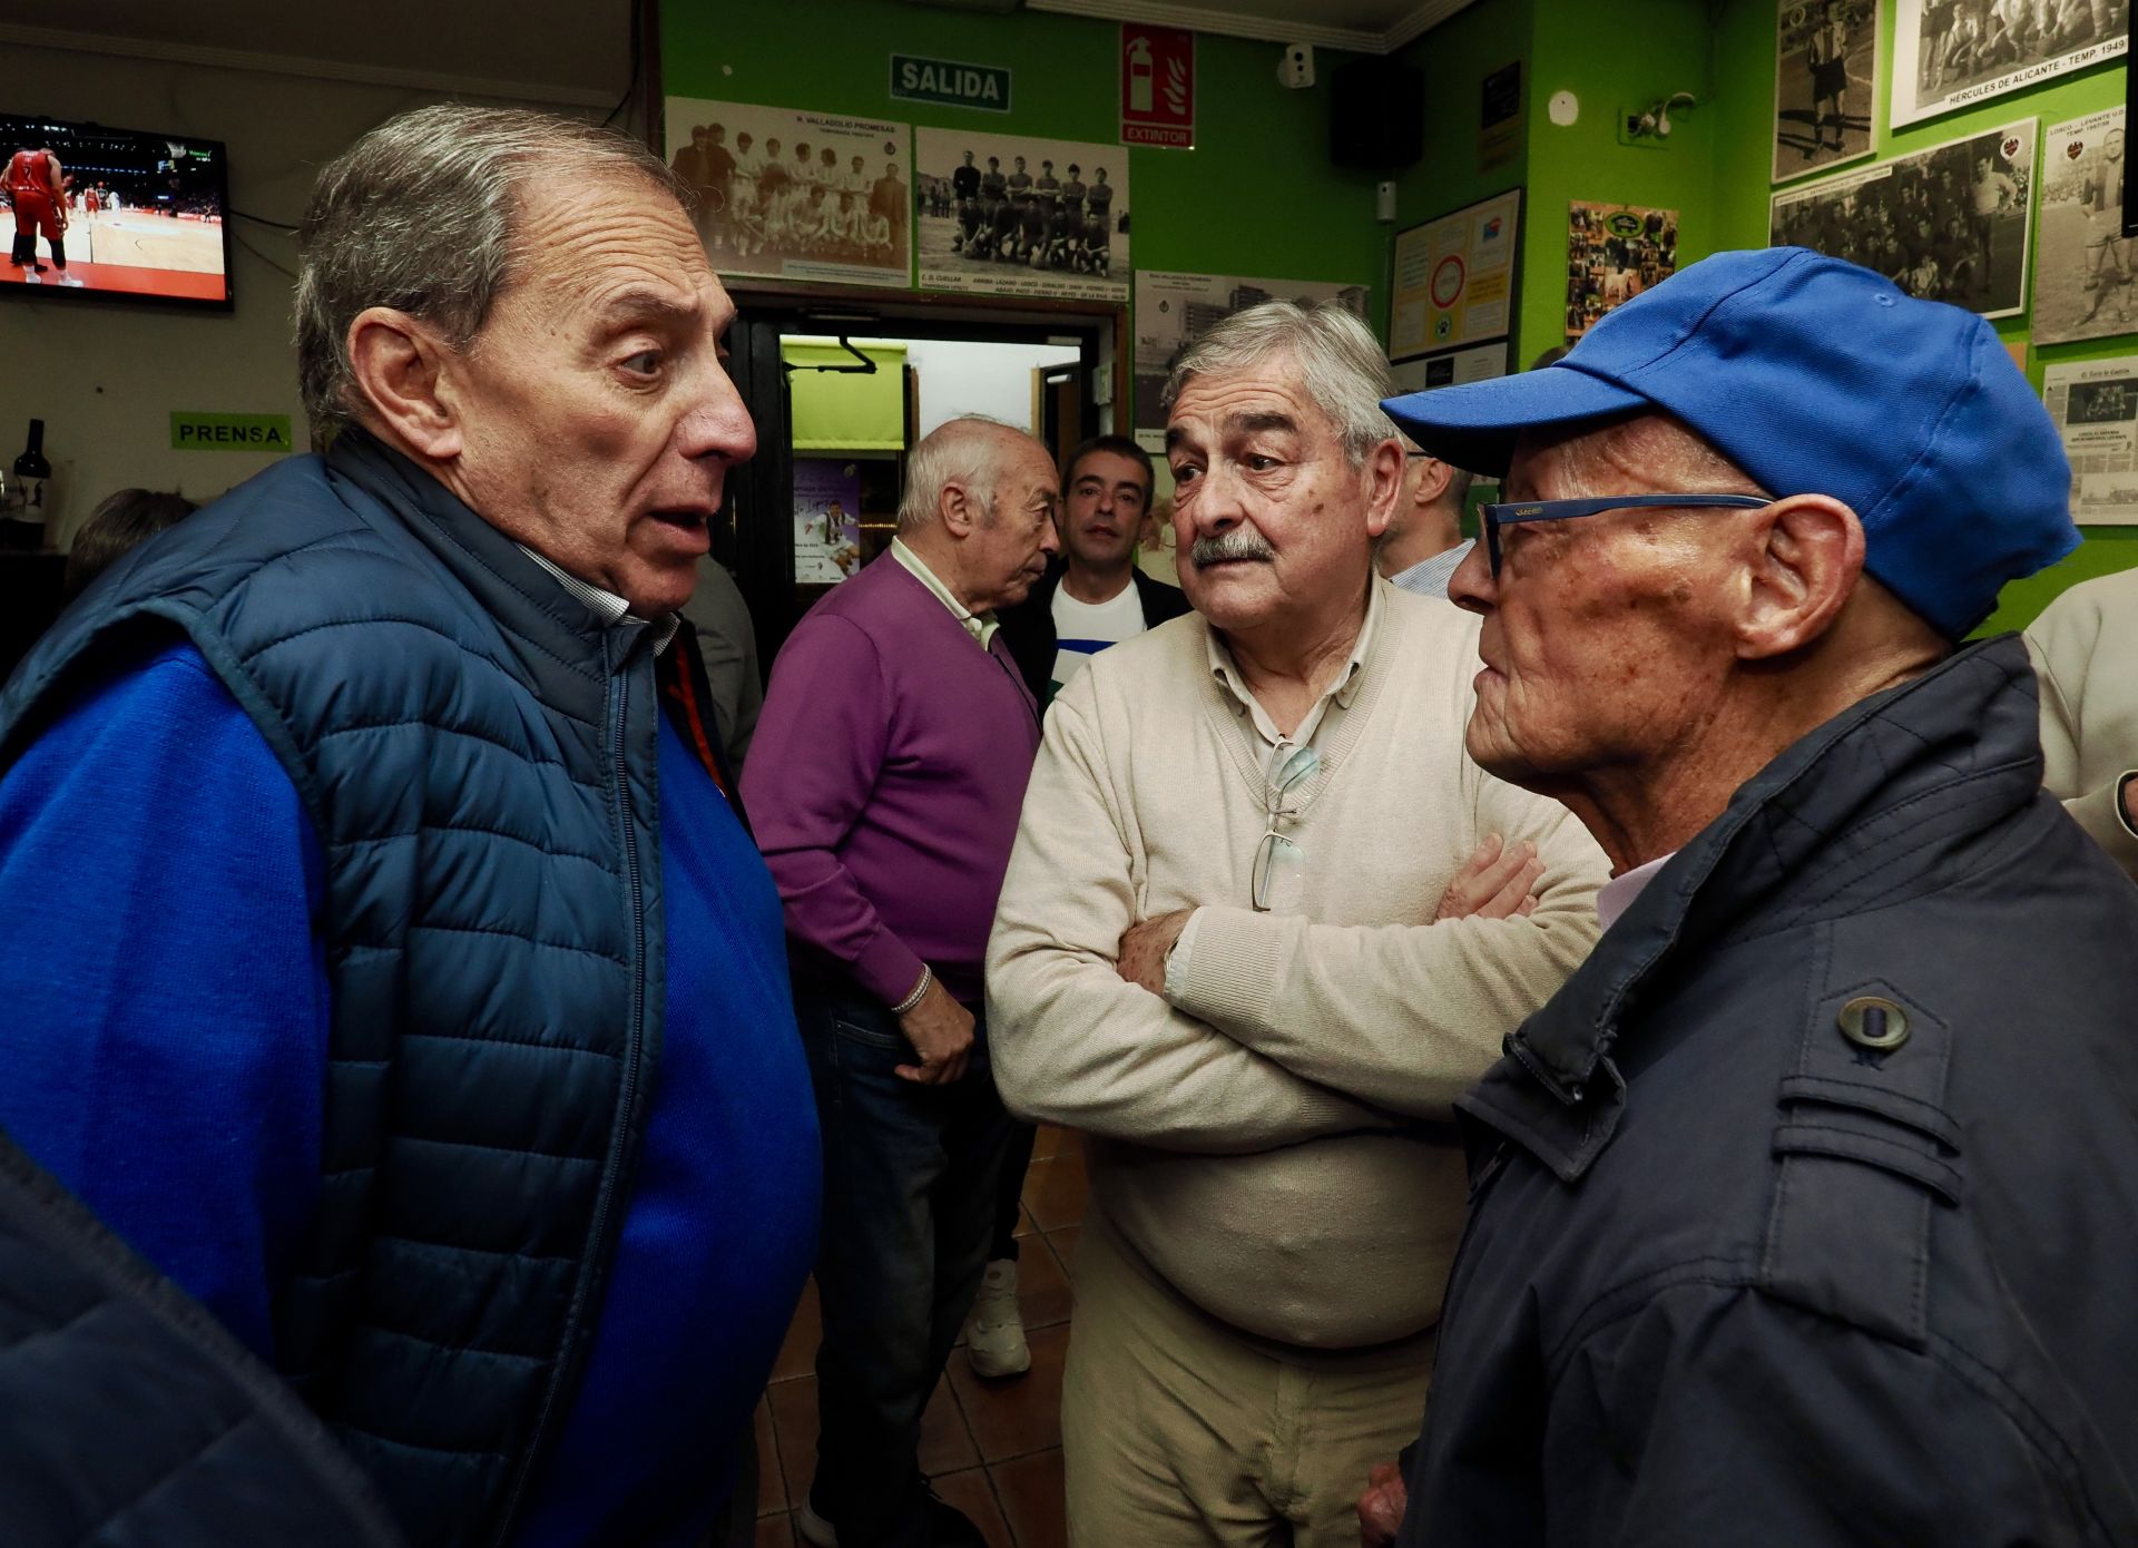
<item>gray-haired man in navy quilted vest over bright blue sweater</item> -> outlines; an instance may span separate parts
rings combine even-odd
[[[0,699],[0,1127],[417,1544],[695,1544],[808,1272],[780,904],[688,626],[755,432],[644,148],[321,171],[325,455],[115,564]],[[113,1443],[128,1415],[113,1413]]]

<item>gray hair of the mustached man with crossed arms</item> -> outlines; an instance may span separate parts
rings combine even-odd
[[[1334,301],[1264,301],[1234,312],[1174,359],[1165,378],[1165,408],[1174,406],[1195,376],[1251,370],[1270,359],[1298,366],[1306,396],[1336,423],[1353,468],[1377,445],[1396,436],[1396,425],[1381,413],[1381,400],[1396,396],[1388,357],[1373,329]]]

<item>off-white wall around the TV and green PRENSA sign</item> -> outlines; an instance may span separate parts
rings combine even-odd
[[[231,203],[284,222],[304,212],[321,162],[381,120],[440,100],[389,86],[11,43],[0,43],[0,94],[11,111],[227,141]],[[13,462],[28,421],[45,421],[62,547],[113,490],[175,487],[199,500],[269,464],[261,453],[173,451],[173,408],[289,415],[306,445],[291,280],[276,269],[295,267],[297,244],[246,222],[235,222],[235,312],[0,297],[0,458]]]

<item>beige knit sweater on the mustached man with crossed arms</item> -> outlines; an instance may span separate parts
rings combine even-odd
[[[1003,1099],[1090,1137],[1097,1212],[1174,1289],[1315,1349],[1439,1317],[1465,1204],[1450,1103],[1589,951],[1608,868],[1556,802],[1465,757],[1477,620],[1375,584],[1355,691],[1287,802],[1298,915],[1249,907],[1266,746],[1191,614],[1054,699],[988,947]],[[1435,924],[1488,832],[1537,840],[1537,911]],[[1176,1007],[1114,960],[1184,907]]]

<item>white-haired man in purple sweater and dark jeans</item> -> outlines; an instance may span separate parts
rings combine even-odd
[[[787,909],[823,1123],[817,1548],[979,1544],[919,1424],[988,1257],[1011,1120],[981,960],[1039,750],[994,609],[1056,552],[1045,449],[954,419],[907,466],[892,552],[772,667],[744,802]]]

